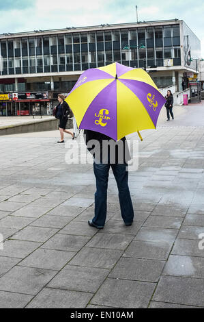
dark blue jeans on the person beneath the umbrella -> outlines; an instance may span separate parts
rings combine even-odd
[[[104,227],[106,222],[107,188],[110,166],[117,182],[121,216],[124,223],[132,223],[134,217],[130,190],[128,188],[128,171],[126,171],[127,164],[98,164],[93,162],[93,171],[96,177],[96,193],[95,216],[92,221],[98,227]]]

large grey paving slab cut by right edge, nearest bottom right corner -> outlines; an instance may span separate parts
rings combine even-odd
[[[162,276],[153,301],[204,306],[204,280],[189,277]]]

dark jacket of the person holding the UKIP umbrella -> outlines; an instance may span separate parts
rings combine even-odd
[[[131,159],[126,137],[121,138],[119,141],[115,141],[109,136],[85,129],[84,139],[87,149],[93,155],[93,158],[100,163],[127,164]],[[99,145],[94,145],[91,140],[97,140]]]

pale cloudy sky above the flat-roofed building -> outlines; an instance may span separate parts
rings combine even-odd
[[[165,4],[165,5],[164,5]],[[204,0],[0,0],[0,34],[179,18],[201,40],[204,58]]]

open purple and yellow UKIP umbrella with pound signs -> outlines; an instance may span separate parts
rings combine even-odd
[[[142,129],[156,129],[166,99],[143,69],[115,62],[85,71],[65,101],[79,129],[120,140]]]

